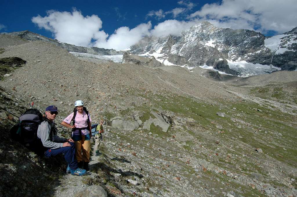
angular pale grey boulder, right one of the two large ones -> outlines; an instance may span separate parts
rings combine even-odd
[[[160,126],[163,132],[167,132],[171,124],[171,118],[162,113],[151,112],[151,114],[154,115],[155,118],[150,117],[149,120],[146,120],[143,124],[143,129],[150,130],[151,124],[154,124],[155,126]]]

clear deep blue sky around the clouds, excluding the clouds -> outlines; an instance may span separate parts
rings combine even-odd
[[[152,25],[160,22],[156,17],[147,17],[146,15],[152,10],[163,9],[164,12],[172,10],[176,7],[182,7],[178,1],[8,1],[0,2],[1,16],[0,24],[4,25],[1,32],[13,32],[29,30],[35,33],[42,34],[47,37],[52,37],[50,31],[40,29],[36,24],[31,22],[31,18],[37,15],[46,16],[46,11],[56,10],[60,12],[72,12],[73,8],[81,11],[86,15],[98,15],[102,20],[102,29],[109,35],[117,28],[128,26],[134,28],[140,23],[151,21]],[[195,3],[195,8],[199,8],[208,2],[217,1],[192,1]],[[198,3],[199,2],[199,3]],[[166,15],[163,21],[172,18]],[[182,19],[182,16],[177,17]]]

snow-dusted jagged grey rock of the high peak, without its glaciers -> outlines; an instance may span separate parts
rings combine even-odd
[[[294,33],[296,35],[296,28],[288,32],[290,36]],[[290,37],[290,39],[296,40],[296,37]],[[169,62],[173,61],[171,63],[174,64],[200,66],[210,63],[207,65],[220,68],[218,70],[230,74],[238,72],[227,67],[225,61],[220,63],[219,61],[245,60],[248,63],[272,64],[283,70],[294,70],[296,67],[296,42],[287,46],[284,40],[283,46],[292,51],[273,57],[271,49],[265,46],[265,39],[263,34],[255,31],[217,28],[211,23],[203,22],[192,26],[179,36],[144,37],[138,44],[133,45],[130,51],[134,54],[143,54],[154,50],[164,53],[164,57]],[[172,58],[172,55],[176,55],[175,57],[179,57],[179,59]]]

